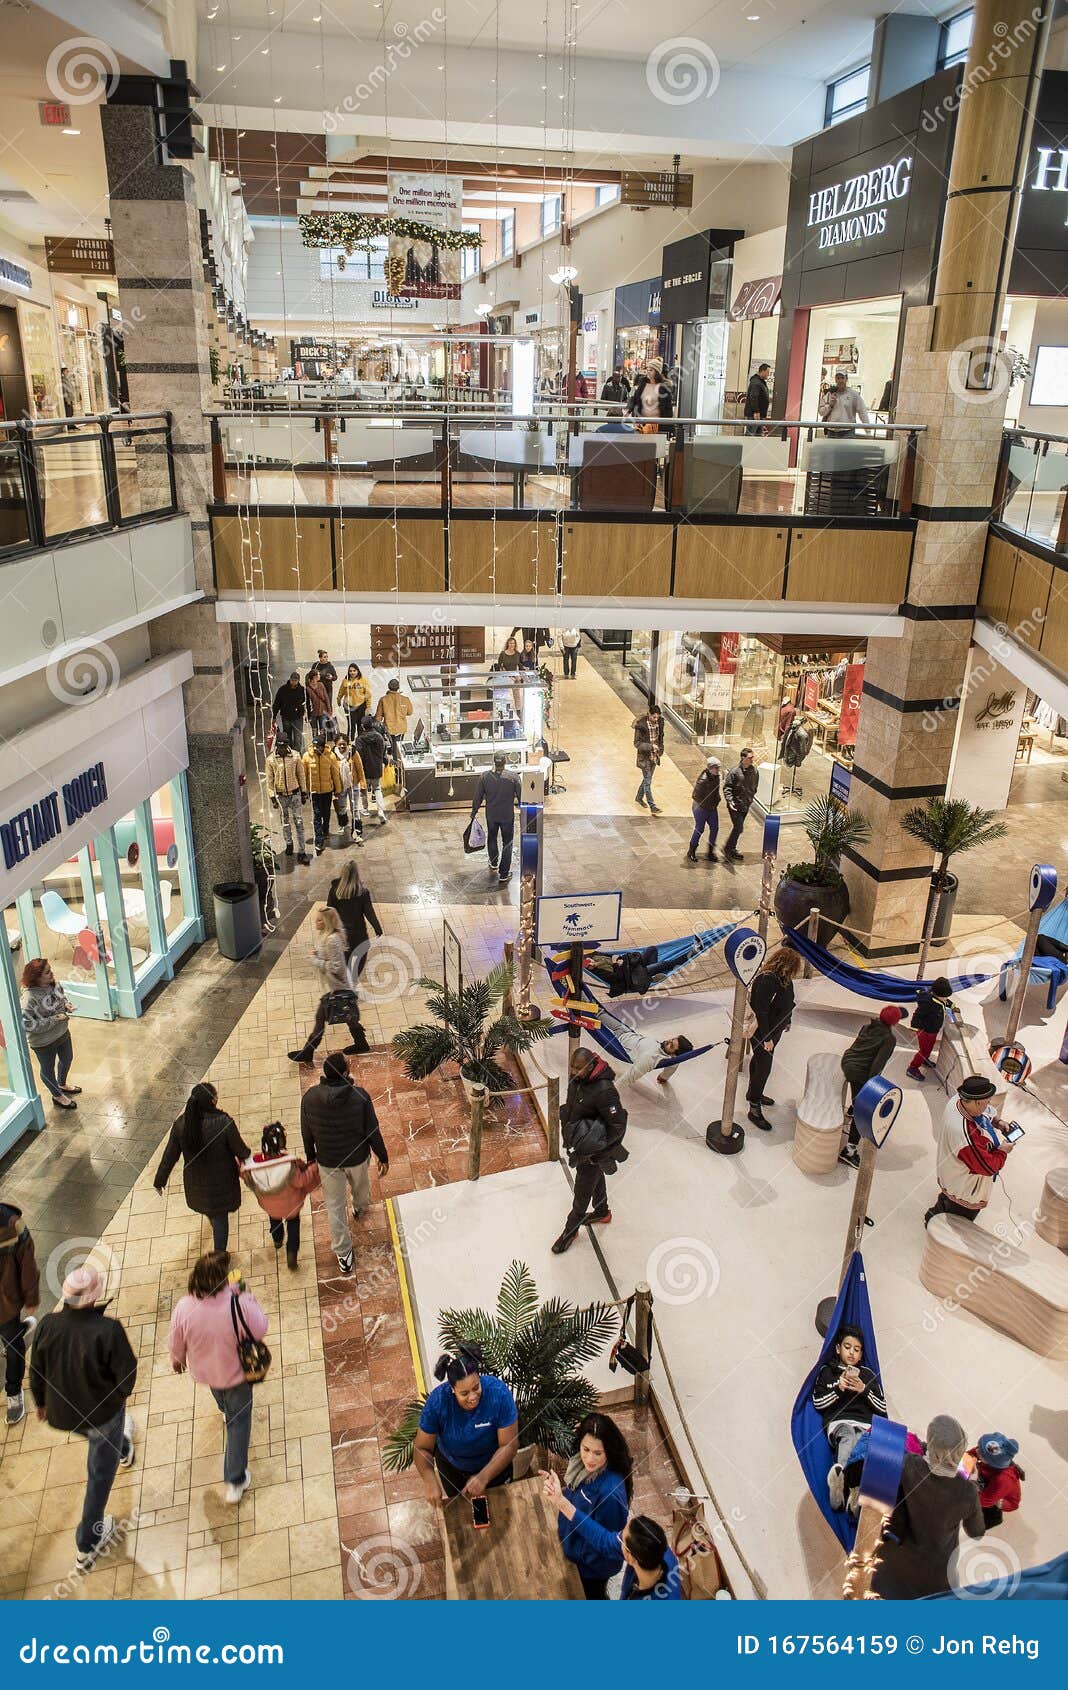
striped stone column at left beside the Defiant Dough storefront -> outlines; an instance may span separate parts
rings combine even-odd
[[[123,84],[117,91],[123,98]],[[199,215],[193,174],[159,157],[147,105],[101,106],[118,299],[132,411],[172,416],[177,502],[189,514],[196,581],[204,598],[150,624],[154,654],[193,652],[186,683],[189,804],[196,879],[208,931],[216,880],[252,879],[245,750],[230,629],[215,617],[206,505],[211,397]]]

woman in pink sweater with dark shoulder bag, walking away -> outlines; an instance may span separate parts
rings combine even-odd
[[[265,1338],[270,1322],[245,1288],[232,1283],[230,1251],[208,1251],[194,1262],[186,1296],[171,1315],[167,1347],[174,1372],[189,1372],[206,1384],[226,1421],[223,1484],[228,1502],[240,1502],[252,1484],[248,1443],[252,1438],[252,1386],[238,1355],[238,1335]]]

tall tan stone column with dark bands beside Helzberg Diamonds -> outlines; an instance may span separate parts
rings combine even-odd
[[[872,840],[843,862],[869,957],[919,946],[931,859],[901,818],[945,793],[953,757],[1005,412],[997,333],[1048,34],[1033,7],[978,0],[934,304],[906,319],[897,419],[926,428],[906,630],[869,641],[852,804]]]

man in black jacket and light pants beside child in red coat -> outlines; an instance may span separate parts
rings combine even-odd
[[[301,1137],[304,1156],[319,1164],[330,1244],[341,1273],[351,1273],[351,1235],[345,1212],[345,1191],[351,1191],[353,1220],[370,1203],[370,1154],[375,1153],[379,1178],[389,1173],[389,1151],[379,1127],[375,1105],[362,1085],[353,1085],[348,1061],[340,1053],[323,1063],[323,1078],[301,1098]]]

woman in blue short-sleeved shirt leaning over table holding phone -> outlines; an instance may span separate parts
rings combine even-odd
[[[504,1379],[482,1372],[482,1349],[439,1355],[416,1433],[416,1470],[434,1507],[453,1496],[483,1496],[512,1477],[519,1411]],[[436,1469],[436,1472],[434,1472]],[[444,1492],[444,1494],[443,1494]]]

